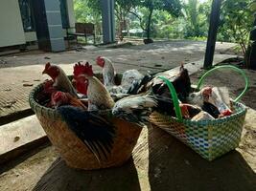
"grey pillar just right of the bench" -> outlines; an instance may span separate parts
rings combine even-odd
[[[102,0],[104,43],[115,42],[115,13],[114,0]]]

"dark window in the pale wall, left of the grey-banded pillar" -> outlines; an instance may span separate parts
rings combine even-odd
[[[31,0],[19,0],[18,3],[24,32],[35,32]]]

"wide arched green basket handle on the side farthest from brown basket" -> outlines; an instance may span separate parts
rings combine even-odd
[[[212,72],[214,72],[214,71],[216,71],[216,70],[218,70],[218,69],[232,69],[232,70],[234,70],[234,71],[236,71],[236,72],[238,72],[238,73],[240,73],[240,74],[242,74],[242,75],[244,76],[244,81],[245,81],[244,91],[243,91],[239,96],[237,96],[237,98],[234,100],[235,102],[239,101],[239,100],[242,98],[242,96],[244,96],[245,92],[246,92],[247,89],[248,89],[248,77],[247,77],[246,74],[244,74],[244,71],[243,71],[243,70],[241,70],[241,69],[239,69],[239,68],[237,68],[237,67],[235,67],[235,66],[232,66],[232,65],[217,66],[217,67],[215,67],[215,68],[213,68],[213,69],[207,71],[207,72],[206,72],[205,74],[203,74],[203,75],[201,76],[201,78],[199,79],[197,89],[198,89],[198,90],[200,89],[201,84],[202,84],[202,82],[203,82],[203,80],[204,80],[204,78],[205,78],[206,76],[208,76],[209,74],[212,74]]]

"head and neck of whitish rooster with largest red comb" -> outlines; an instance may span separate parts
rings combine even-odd
[[[76,70],[82,71],[77,80],[88,80],[88,111],[111,109],[114,106],[114,100],[104,84],[97,77],[93,76],[92,66],[86,62],[84,65],[77,65]]]

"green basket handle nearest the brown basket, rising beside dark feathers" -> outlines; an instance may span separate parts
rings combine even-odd
[[[182,121],[183,118],[182,118],[182,115],[181,115],[181,110],[180,110],[180,107],[179,107],[178,98],[177,98],[177,95],[176,95],[174,85],[172,84],[172,82],[169,79],[167,79],[164,76],[159,75],[157,77],[162,79],[166,83],[166,85],[168,86],[169,91],[171,93],[171,96],[173,97],[174,105],[175,105],[175,115],[176,115],[176,117],[179,121]]]

